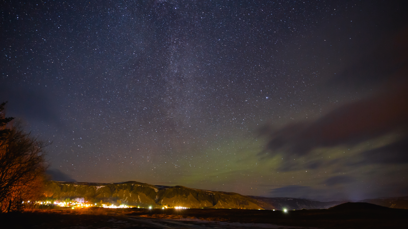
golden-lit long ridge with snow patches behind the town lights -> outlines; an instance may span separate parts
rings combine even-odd
[[[262,209],[256,200],[234,192],[219,192],[184,186],[155,186],[136,181],[121,183],[59,182],[47,183],[49,199],[80,199],[90,203],[113,203],[141,208],[242,208]]]

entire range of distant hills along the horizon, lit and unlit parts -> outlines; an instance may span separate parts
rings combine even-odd
[[[90,203],[125,204],[141,208],[235,208],[266,210],[327,209],[347,201],[319,202],[288,197],[244,196],[234,192],[220,192],[160,186],[128,181],[121,183],[47,182],[46,198],[64,201],[82,199]],[[388,208],[408,209],[408,197],[364,199],[360,202]]]

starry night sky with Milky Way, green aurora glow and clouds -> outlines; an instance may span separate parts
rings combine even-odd
[[[0,102],[54,180],[406,196],[403,2],[5,0]]]

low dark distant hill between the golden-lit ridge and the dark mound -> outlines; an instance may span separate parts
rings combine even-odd
[[[330,208],[339,204],[343,204],[344,201],[330,201],[330,202],[320,202],[312,201],[310,199],[298,199],[298,198],[287,198],[287,197],[262,197],[262,196],[252,196],[248,197],[256,199],[257,204],[263,209],[268,210],[300,210],[300,209],[324,209]]]

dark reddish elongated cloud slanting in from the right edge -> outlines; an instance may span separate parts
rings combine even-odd
[[[268,144],[267,150],[261,155],[273,156],[284,152],[285,157],[299,157],[309,155],[316,148],[356,145],[392,132],[406,136],[407,87],[406,81],[399,85],[392,84],[386,92],[343,105],[314,122],[291,123],[280,129],[264,126],[260,132],[267,137]],[[268,151],[272,154],[266,154]],[[403,154],[401,150],[394,152]],[[297,163],[288,162],[287,167],[295,162]],[[316,161],[313,167],[318,167],[319,164]]]

